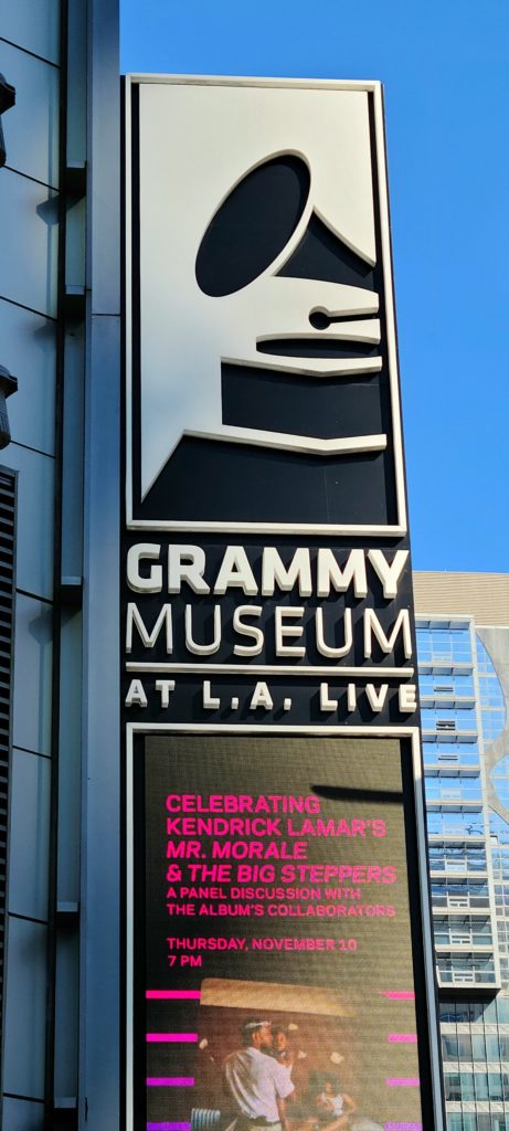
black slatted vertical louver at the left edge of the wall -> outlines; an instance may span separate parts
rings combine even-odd
[[[16,475],[0,467],[0,1026],[3,1019],[7,829],[10,772]],[[0,1048],[1,1048],[0,1031]]]

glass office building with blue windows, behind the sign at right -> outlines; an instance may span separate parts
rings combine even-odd
[[[448,1131],[509,1129],[509,577],[414,575]]]

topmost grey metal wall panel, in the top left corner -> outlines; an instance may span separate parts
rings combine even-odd
[[[60,3],[59,0],[6,0],[2,5],[1,34],[27,51],[33,51],[53,63],[59,62]]]

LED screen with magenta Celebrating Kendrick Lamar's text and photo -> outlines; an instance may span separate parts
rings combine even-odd
[[[404,744],[136,736],[133,1126],[422,1128]]]

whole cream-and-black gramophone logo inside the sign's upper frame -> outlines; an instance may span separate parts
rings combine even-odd
[[[147,84],[139,123],[141,499],[189,437],[385,451],[351,407],[385,364],[368,95]]]

